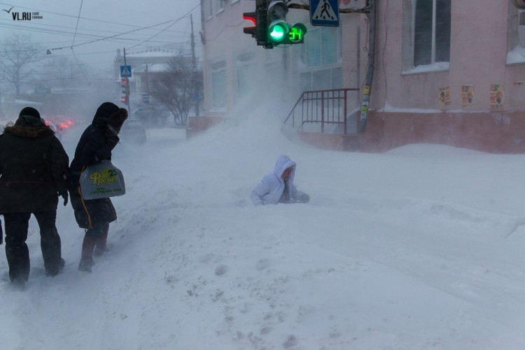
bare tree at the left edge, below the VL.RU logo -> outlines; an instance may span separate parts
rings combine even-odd
[[[20,95],[20,87],[31,75],[31,63],[43,58],[43,48],[31,41],[30,36],[15,33],[4,38],[0,48],[3,76]]]

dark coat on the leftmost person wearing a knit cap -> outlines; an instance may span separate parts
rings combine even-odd
[[[0,213],[57,210],[69,158],[43,119],[20,115],[0,136]]]

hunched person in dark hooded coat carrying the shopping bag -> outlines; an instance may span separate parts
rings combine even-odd
[[[111,161],[111,151],[117,145],[118,133],[127,119],[127,110],[111,102],[99,106],[93,122],[87,126],[71,161],[71,180],[69,194],[75,219],[80,228],[85,228],[82,254],[78,270],[91,272],[94,265],[93,254],[101,255],[108,251],[109,223],[117,219],[113,203],[109,198],[84,200],[80,192],[80,174],[86,166]]]

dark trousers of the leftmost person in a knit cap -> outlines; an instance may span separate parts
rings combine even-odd
[[[59,268],[62,259],[60,236],[55,226],[57,212],[52,210],[33,214],[40,227],[40,247],[45,271],[52,274]],[[11,282],[27,281],[29,278],[29,249],[25,241],[30,217],[29,212],[3,214],[6,226],[6,256]]]

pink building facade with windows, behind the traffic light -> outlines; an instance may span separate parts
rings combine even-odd
[[[441,143],[525,152],[525,17],[519,1],[370,1],[376,6],[374,31],[369,14],[339,13],[339,27],[312,27],[308,11],[290,9],[287,20],[307,24],[304,44],[264,50],[242,31],[249,26],[242,13],[253,11],[255,1],[202,0],[206,115],[228,115],[261,86],[253,80],[276,77],[284,77],[295,96],[357,87],[350,110],[359,110],[374,33],[363,133],[356,128],[355,134],[303,138],[342,150]],[[340,0],[339,8],[367,2]]]

